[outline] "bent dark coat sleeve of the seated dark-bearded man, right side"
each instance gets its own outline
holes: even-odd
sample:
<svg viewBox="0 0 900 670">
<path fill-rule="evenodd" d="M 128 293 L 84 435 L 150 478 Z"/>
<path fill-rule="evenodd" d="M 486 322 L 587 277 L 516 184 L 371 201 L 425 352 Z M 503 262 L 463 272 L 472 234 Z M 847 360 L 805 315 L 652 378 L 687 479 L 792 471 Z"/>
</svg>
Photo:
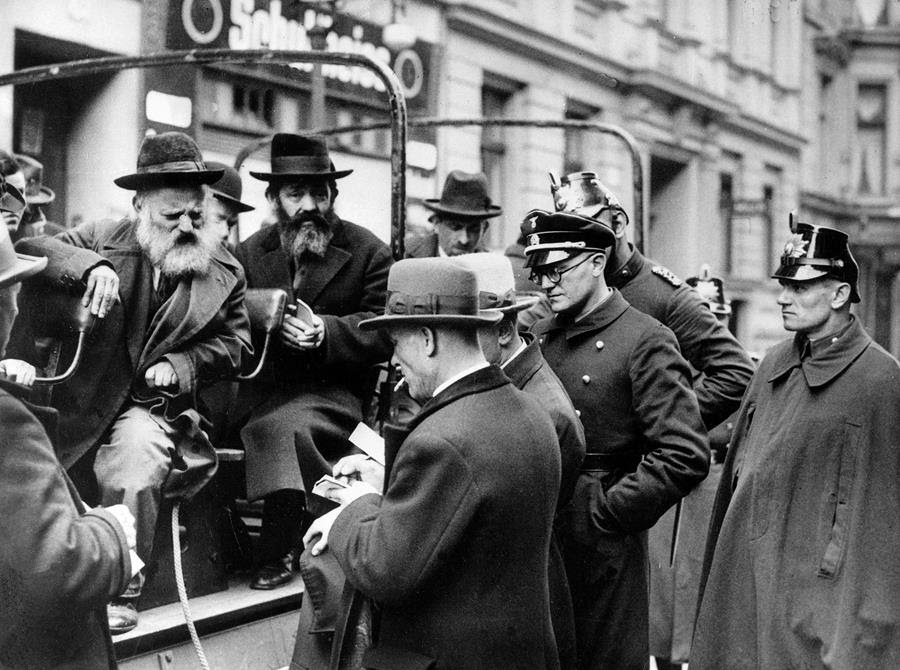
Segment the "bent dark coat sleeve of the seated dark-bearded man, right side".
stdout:
<svg viewBox="0 0 900 670">
<path fill-rule="evenodd" d="M 325 322 L 321 352 L 325 367 L 370 366 L 390 358 L 391 346 L 385 334 L 377 330 L 362 331 L 358 324 L 384 314 L 387 277 L 393 262 L 387 247 L 380 245 L 366 265 L 359 310 L 344 316 L 320 315 Z"/>
</svg>

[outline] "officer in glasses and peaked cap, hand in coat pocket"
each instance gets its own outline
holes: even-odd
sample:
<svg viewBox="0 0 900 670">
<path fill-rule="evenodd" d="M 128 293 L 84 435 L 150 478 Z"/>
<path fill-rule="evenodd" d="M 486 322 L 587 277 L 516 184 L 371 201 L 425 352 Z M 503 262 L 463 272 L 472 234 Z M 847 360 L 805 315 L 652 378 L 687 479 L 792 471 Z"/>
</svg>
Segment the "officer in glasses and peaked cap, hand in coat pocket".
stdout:
<svg viewBox="0 0 900 670">
<path fill-rule="evenodd" d="M 534 210 L 522 224 L 532 281 L 554 312 L 533 332 L 587 442 L 572 502 L 557 523 L 582 670 L 648 666 L 645 531 L 709 467 L 675 336 L 606 285 L 615 241 L 609 215 Z"/>
</svg>

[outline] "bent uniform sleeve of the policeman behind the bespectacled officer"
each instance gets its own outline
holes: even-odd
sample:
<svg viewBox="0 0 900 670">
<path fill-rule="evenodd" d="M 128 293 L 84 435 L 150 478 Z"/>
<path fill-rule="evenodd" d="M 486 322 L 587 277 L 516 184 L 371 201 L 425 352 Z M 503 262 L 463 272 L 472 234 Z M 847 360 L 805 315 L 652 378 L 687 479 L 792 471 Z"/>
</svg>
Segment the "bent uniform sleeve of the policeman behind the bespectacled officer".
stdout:
<svg viewBox="0 0 900 670">
<path fill-rule="evenodd" d="M 675 291 L 665 323 L 675 333 L 682 356 L 703 373 L 694 391 L 703 423 L 714 428 L 740 405 L 753 376 L 753 361 L 692 289 Z"/>
</svg>

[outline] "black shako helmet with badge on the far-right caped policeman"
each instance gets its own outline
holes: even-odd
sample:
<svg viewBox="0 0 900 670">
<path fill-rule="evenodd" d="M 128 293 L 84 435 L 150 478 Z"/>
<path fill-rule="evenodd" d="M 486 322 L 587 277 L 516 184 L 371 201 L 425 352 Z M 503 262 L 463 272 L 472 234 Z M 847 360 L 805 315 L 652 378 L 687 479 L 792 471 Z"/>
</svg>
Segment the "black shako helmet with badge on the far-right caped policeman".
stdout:
<svg viewBox="0 0 900 670">
<path fill-rule="evenodd" d="M 773 279 L 811 281 L 832 277 L 850 284 L 850 302 L 859 302 L 859 265 L 850 253 L 847 233 L 788 217 L 791 237 L 785 243 Z"/>
</svg>

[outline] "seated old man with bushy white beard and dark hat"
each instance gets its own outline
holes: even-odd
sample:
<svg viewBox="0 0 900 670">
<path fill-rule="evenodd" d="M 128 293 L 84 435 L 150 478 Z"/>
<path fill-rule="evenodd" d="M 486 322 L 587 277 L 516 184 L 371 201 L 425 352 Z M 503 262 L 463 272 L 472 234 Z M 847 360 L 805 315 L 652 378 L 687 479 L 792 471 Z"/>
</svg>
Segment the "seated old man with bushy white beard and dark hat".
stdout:
<svg viewBox="0 0 900 670">
<path fill-rule="evenodd" d="M 20 251 L 47 257 L 51 284 L 83 290 L 84 304 L 103 319 L 89 363 L 53 392 L 59 458 L 71 468 L 94 456 L 99 502 L 131 510 L 144 561 L 162 497 L 190 497 L 215 469 L 197 391 L 237 374 L 250 351 L 243 271 L 203 216 L 205 184 L 221 175 L 187 135 L 148 137 L 137 171 L 115 180 L 135 191 L 135 220 L 19 242 Z M 137 625 L 142 583 L 138 573 L 109 606 L 111 632 Z"/>
</svg>

